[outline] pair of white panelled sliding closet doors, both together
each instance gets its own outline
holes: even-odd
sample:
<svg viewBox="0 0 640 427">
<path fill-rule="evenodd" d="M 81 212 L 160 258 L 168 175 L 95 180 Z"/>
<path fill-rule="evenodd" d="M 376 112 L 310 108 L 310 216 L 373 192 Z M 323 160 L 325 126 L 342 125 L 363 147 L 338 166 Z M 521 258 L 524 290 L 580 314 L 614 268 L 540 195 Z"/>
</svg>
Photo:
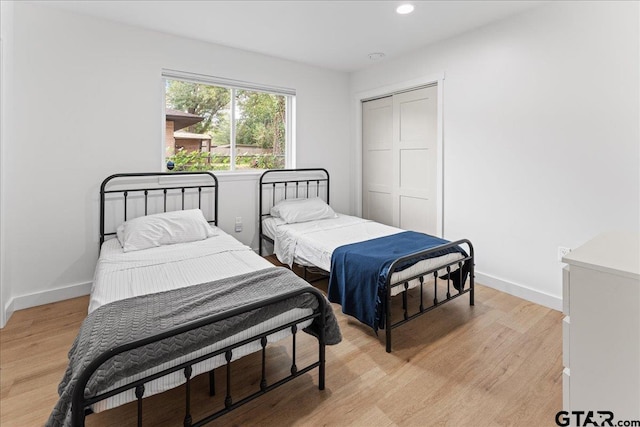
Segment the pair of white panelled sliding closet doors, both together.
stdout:
<svg viewBox="0 0 640 427">
<path fill-rule="evenodd" d="M 362 103 L 362 216 L 437 229 L 437 86 Z"/>
</svg>

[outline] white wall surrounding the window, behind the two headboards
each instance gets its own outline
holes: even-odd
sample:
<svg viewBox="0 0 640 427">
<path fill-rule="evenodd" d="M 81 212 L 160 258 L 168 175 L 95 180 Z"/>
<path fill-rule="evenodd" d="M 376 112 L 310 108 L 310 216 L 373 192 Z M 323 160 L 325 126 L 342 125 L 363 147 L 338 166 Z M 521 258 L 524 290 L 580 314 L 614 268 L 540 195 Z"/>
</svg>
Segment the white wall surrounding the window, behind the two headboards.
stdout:
<svg viewBox="0 0 640 427">
<path fill-rule="evenodd" d="M 15 3 L 15 138 L 4 142 L 8 269 L 15 309 L 88 292 L 98 255 L 98 190 L 116 172 L 158 170 L 163 68 L 297 92 L 297 165 L 349 183 L 348 75 Z M 257 184 L 221 180 L 220 223 L 257 247 Z M 237 187 L 237 188 L 236 188 Z M 333 185 L 337 209 L 346 186 Z M 238 195 L 242 195 L 238 198 Z M 5 307 L 3 307 L 4 309 Z"/>
</svg>

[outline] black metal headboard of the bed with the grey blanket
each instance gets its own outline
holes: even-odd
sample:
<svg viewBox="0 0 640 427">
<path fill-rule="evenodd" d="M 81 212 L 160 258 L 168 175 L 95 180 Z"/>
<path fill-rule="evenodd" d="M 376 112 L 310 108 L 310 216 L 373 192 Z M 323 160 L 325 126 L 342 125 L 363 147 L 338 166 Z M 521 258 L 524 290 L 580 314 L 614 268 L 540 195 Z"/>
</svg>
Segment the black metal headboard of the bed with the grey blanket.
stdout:
<svg viewBox="0 0 640 427">
<path fill-rule="evenodd" d="M 111 175 L 100 185 L 100 245 L 127 219 L 196 208 L 218 225 L 218 178 L 211 172 Z"/>
</svg>

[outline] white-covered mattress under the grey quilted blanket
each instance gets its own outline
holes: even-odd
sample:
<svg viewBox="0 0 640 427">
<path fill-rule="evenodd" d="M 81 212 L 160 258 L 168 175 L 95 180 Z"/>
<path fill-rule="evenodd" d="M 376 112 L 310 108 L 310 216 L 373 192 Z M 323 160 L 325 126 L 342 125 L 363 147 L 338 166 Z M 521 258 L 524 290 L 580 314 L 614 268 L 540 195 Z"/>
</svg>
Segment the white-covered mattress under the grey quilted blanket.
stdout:
<svg viewBox="0 0 640 427">
<path fill-rule="evenodd" d="M 257 255 L 251 248 L 222 230 L 217 230 L 217 234 L 217 236 L 198 242 L 180 243 L 127 253 L 123 252 L 117 239 L 106 241 L 102 245 L 96 266 L 89 312 L 101 305 L 124 298 L 177 289 L 273 267 L 273 264 Z M 260 332 L 311 314 L 311 312 L 310 309 L 288 311 L 212 346 L 142 372 L 126 381 L 119 381 L 110 389 L 159 372 L 175 365 L 176 362 L 181 363 L 223 348 L 233 342 L 255 336 Z M 311 321 L 306 321 L 298 326 L 303 328 L 310 323 Z M 289 335 L 291 335 L 291 331 L 287 328 L 270 335 L 268 341 L 274 342 Z M 233 359 L 238 359 L 261 348 L 259 341 L 251 342 L 233 350 Z M 205 360 L 193 365 L 193 375 L 207 372 L 224 363 L 226 363 L 224 354 Z M 184 382 L 184 375 L 181 371 L 151 381 L 145 384 L 145 397 L 177 387 Z M 92 406 L 92 409 L 94 412 L 100 412 L 134 400 L 136 400 L 134 390 L 129 390 L 97 402 Z"/>
</svg>

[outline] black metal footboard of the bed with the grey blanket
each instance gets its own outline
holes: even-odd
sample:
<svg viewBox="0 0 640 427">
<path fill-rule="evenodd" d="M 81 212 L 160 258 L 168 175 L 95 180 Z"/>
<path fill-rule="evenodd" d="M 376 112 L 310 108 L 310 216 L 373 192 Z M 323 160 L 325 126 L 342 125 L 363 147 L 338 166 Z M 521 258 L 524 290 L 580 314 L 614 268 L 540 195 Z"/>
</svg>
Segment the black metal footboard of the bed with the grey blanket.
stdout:
<svg viewBox="0 0 640 427">
<path fill-rule="evenodd" d="M 113 358 L 114 356 L 133 350 L 135 348 L 140 348 L 143 347 L 145 345 L 148 345 L 150 343 L 154 343 L 154 342 L 158 342 L 161 341 L 163 339 L 172 337 L 172 336 L 176 336 L 182 333 L 185 333 L 187 331 L 191 331 L 191 330 L 195 330 L 198 328 L 201 328 L 203 326 L 215 323 L 215 322 L 219 322 L 222 321 L 224 319 L 228 319 L 234 316 L 237 316 L 239 314 L 245 313 L 245 312 L 249 312 L 251 310 L 255 310 L 258 309 L 260 307 L 265 307 L 267 305 L 270 304 L 274 304 L 280 301 L 284 301 L 287 300 L 289 298 L 293 298 L 297 295 L 301 295 L 301 294 L 305 294 L 305 293 L 310 293 L 312 294 L 318 301 L 318 308 L 312 313 L 309 314 L 307 316 L 301 317 L 300 319 L 296 319 L 294 321 L 291 321 L 287 324 L 275 327 L 269 331 L 257 334 L 255 336 L 252 336 L 250 338 L 244 339 L 242 341 L 236 342 L 234 344 L 228 345 L 224 348 L 212 351 L 210 353 L 204 354 L 202 356 L 199 356 L 197 358 L 194 358 L 193 360 L 188 360 L 184 363 L 180 363 L 180 364 L 176 364 L 175 366 L 172 366 L 168 369 L 165 369 L 161 372 L 152 374 L 152 375 L 148 375 L 144 378 L 140 378 L 138 380 L 132 380 L 131 382 L 128 382 L 118 388 L 115 388 L 113 390 L 107 391 L 107 392 L 102 392 L 96 396 L 88 396 L 85 397 L 84 395 L 84 391 L 85 391 L 85 387 L 88 383 L 88 381 L 90 380 L 91 376 L 100 368 L 100 366 L 105 363 L 106 361 L 108 361 L 109 359 Z M 172 374 L 174 372 L 178 372 L 178 371 L 182 371 L 184 373 L 184 377 L 185 377 L 185 381 L 186 381 L 186 386 L 185 386 L 185 415 L 184 415 L 184 425 L 185 426 L 201 426 L 204 424 L 207 424 L 211 421 L 213 421 L 214 419 L 232 411 L 233 409 L 244 405 L 245 403 L 248 403 L 252 400 L 254 400 L 255 398 L 257 398 L 258 396 L 261 396 L 289 381 L 291 381 L 292 379 L 303 375 L 315 368 L 318 368 L 318 388 L 320 390 L 324 390 L 325 387 L 325 345 L 326 345 L 326 341 L 325 341 L 325 310 L 326 310 L 326 300 L 325 297 L 322 295 L 322 293 L 315 289 L 315 288 L 311 288 L 311 287 L 305 287 L 304 289 L 299 289 L 299 290 L 295 290 L 295 291 L 291 291 L 288 292 L 286 294 L 282 294 L 279 296 L 275 296 L 272 298 L 269 298 L 267 300 L 264 301 L 260 301 L 260 302 L 256 302 L 253 304 L 248 304 L 245 305 L 243 307 L 239 307 L 237 309 L 233 309 L 230 311 L 227 311 L 225 313 L 219 313 L 207 318 L 204 318 L 202 320 L 199 320 L 197 322 L 193 322 L 187 325 L 184 325 L 180 328 L 176 328 L 167 332 L 164 332 L 162 334 L 158 334 L 158 335 L 154 335 L 154 336 L 150 336 L 148 338 L 144 338 L 141 340 L 137 340 L 134 342 L 129 342 L 123 345 L 120 345 L 116 348 L 113 348 L 105 353 L 103 353 L 102 355 L 100 355 L 98 358 L 96 358 L 89 366 L 87 366 L 83 372 L 81 373 L 75 388 L 73 390 L 73 397 L 72 397 L 72 425 L 74 426 L 83 426 L 84 422 L 85 422 L 85 417 L 87 416 L 87 414 L 91 413 L 90 411 L 90 407 L 91 405 L 93 405 L 96 402 L 99 402 L 101 400 L 107 399 L 109 397 L 115 396 L 117 394 L 120 394 L 124 391 L 127 390 L 135 390 L 135 396 L 137 398 L 137 425 L 141 426 L 143 423 L 143 398 L 145 397 L 145 384 L 155 380 L 157 378 L 161 378 L 164 376 L 167 376 L 169 374 Z M 296 334 L 298 333 L 298 327 L 297 325 L 300 324 L 301 322 L 307 321 L 307 320 L 311 320 L 313 319 L 314 322 L 317 322 L 318 328 L 318 335 L 317 335 L 317 339 L 318 339 L 318 360 L 316 362 L 310 363 L 309 365 L 299 368 L 296 364 Z M 268 344 L 268 339 L 267 337 L 275 332 L 281 331 L 281 330 L 285 330 L 285 329 L 290 329 L 291 330 L 291 339 L 292 339 L 292 347 L 293 347 L 293 353 L 292 353 L 292 358 L 291 358 L 291 367 L 290 367 L 290 375 L 275 381 L 273 383 L 270 383 L 267 375 L 266 375 L 266 351 L 267 351 L 267 344 Z M 254 342 L 254 341 L 259 341 L 260 342 L 260 346 L 261 346 L 261 352 L 262 352 L 262 369 L 261 369 L 261 378 L 259 381 L 259 388 L 253 392 L 252 394 L 250 394 L 249 396 L 246 396 L 238 401 L 234 401 L 233 395 L 232 395 L 232 390 L 231 390 L 231 361 L 233 359 L 233 351 L 234 349 L 241 347 L 245 344 L 248 344 L 250 342 Z M 224 401 L 224 408 L 219 409 L 217 411 L 213 411 L 211 412 L 209 415 L 205 416 L 204 418 L 194 421 L 192 419 L 192 415 L 191 415 L 191 379 L 192 379 L 192 367 L 193 365 L 195 365 L 196 363 L 202 362 L 204 360 L 207 359 L 211 359 L 215 356 L 224 354 L 225 355 L 225 360 L 226 360 L 226 371 L 227 371 L 227 382 L 226 382 L 226 396 L 225 396 L 225 401 Z M 209 373 L 209 378 L 210 381 L 213 380 L 213 371 L 210 371 Z M 213 394 L 213 383 L 210 383 L 210 393 Z"/>
</svg>

